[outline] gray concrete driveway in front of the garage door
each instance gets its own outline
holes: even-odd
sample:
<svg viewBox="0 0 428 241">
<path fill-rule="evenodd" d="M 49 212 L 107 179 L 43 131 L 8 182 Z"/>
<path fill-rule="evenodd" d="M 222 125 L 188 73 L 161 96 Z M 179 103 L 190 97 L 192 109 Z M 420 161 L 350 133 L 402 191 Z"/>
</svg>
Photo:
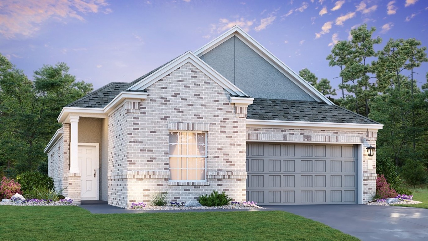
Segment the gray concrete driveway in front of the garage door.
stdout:
<svg viewBox="0 0 428 241">
<path fill-rule="evenodd" d="M 375 205 L 277 205 L 361 240 L 428 240 L 428 209 Z M 266 210 L 265 209 L 265 210 Z"/>
</svg>

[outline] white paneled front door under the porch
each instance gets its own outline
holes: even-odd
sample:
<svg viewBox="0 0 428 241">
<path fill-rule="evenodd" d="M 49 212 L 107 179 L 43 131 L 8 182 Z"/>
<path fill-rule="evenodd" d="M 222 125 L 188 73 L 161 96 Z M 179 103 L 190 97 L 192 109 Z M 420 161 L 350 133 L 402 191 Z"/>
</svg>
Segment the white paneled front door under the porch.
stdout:
<svg viewBox="0 0 428 241">
<path fill-rule="evenodd" d="M 98 200 L 98 143 L 79 143 L 77 159 L 81 199 Z"/>
</svg>

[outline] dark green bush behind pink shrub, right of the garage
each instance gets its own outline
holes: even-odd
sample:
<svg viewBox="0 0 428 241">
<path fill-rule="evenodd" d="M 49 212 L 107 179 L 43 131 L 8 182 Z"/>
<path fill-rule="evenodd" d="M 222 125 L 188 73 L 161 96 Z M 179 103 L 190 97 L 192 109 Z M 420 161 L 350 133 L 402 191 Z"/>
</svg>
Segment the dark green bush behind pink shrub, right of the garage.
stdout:
<svg viewBox="0 0 428 241">
<path fill-rule="evenodd" d="M 389 183 L 389 186 L 391 188 L 394 188 L 395 190 L 397 190 L 397 188 L 399 188 L 402 184 L 400 175 L 398 175 L 397 172 L 397 167 L 390 158 L 384 157 L 382 155 L 377 155 L 376 173 L 378 174 L 378 176 L 383 174 L 386 181 Z"/>
</svg>

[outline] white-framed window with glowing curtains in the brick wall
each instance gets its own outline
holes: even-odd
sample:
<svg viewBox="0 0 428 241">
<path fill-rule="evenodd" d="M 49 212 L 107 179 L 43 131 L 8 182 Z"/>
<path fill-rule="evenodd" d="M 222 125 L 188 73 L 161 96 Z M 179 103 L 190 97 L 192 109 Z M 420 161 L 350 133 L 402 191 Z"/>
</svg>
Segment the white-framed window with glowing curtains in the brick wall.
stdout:
<svg viewBox="0 0 428 241">
<path fill-rule="evenodd" d="M 205 132 L 169 132 L 170 180 L 205 180 Z"/>
</svg>

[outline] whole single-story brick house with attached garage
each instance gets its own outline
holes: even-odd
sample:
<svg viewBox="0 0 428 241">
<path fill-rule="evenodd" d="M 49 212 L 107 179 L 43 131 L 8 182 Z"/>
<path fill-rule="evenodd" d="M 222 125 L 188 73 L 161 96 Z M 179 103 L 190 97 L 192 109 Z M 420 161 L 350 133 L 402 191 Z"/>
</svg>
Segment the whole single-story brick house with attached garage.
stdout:
<svg viewBox="0 0 428 241">
<path fill-rule="evenodd" d="M 382 125 L 333 104 L 240 27 L 131 83 L 65 106 L 46 146 L 55 188 L 129 208 L 212 190 L 236 201 L 365 203 Z"/>
</svg>

